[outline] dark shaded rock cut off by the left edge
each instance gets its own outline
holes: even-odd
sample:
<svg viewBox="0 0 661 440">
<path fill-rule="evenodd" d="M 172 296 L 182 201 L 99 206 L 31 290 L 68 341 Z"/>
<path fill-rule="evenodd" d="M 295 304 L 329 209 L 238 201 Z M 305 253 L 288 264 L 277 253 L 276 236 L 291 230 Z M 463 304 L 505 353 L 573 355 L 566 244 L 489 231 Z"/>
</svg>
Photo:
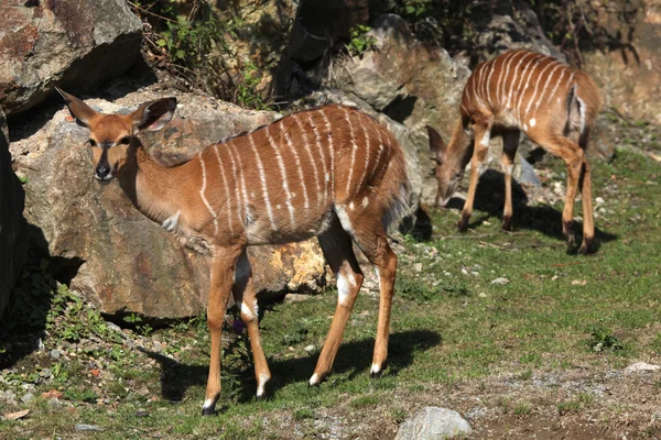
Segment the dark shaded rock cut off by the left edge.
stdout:
<svg viewBox="0 0 661 440">
<path fill-rule="evenodd" d="M 9 130 L 0 108 L 0 316 L 28 253 L 24 198 L 21 182 L 11 167 Z"/>
</svg>

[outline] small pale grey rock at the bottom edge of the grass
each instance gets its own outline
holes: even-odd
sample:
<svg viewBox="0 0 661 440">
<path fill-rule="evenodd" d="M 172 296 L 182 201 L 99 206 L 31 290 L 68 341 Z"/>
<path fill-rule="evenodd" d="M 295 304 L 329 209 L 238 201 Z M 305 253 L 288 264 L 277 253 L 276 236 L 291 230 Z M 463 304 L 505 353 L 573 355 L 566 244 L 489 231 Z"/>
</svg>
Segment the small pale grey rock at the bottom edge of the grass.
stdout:
<svg viewBox="0 0 661 440">
<path fill-rule="evenodd" d="M 470 433 L 470 425 L 455 410 L 427 406 L 404 421 L 394 440 L 436 440 Z"/>
</svg>

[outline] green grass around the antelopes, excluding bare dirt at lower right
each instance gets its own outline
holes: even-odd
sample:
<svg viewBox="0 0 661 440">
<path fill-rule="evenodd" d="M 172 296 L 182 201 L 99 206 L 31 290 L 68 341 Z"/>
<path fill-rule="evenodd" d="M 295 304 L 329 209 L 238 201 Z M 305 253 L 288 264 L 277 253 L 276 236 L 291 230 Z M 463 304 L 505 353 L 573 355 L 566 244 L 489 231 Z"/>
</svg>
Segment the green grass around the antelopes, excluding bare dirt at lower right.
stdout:
<svg viewBox="0 0 661 440">
<path fill-rule="evenodd" d="M 562 170 L 559 164 L 552 166 Z M 561 205 L 516 213 L 514 233 L 501 232 L 497 217 L 476 211 L 474 218 L 483 222 L 459 235 L 456 210 L 432 211 L 434 238 L 425 243 L 405 238 L 399 252 L 389 366 L 378 380 L 369 377 L 378 297 L 364 293 L 333 374 L 321 387 L 307 385 L 335 309 L 336 292 L 329 289 L 311 300 L 267 307 L 260 329 L 273 373 L 268 400 L 252 397 L 256 383 L 240 337 L 225 350 L 220 413 L 199 417 L 208 336 L 204 319 L 196 319 L 154 331 L 152 337 L 169 344 L 166 353 L 175 361 L 121 344 L 83 353 L 76 361 L 61 360 L 63 382 L 37 383 L 33 402 L 20 405 L 31 416 L 0 421 L 0 437 L 69 438 L 76 424 L 93 424 L 105 430 L 85 438 L 313 438 L 333 430 L 323 422 L 328 417 L 395 426 L 414 407 L 442 405 L 443 396 L 452 393 L 479 396 L 488 389 L 486 383 L 502 375 L 530 383 L 540 373 L 562 373 L 575 365 L 605 371 L 658 359 L 661 167 L 618 151 L 611 162 L 594 163 L 593 175 L 594 197 L 606 202 L 596 219 L 602 245 L 590 256 L 565 252 L 557 235 Z M 579 213 L 578 202 L 576 207 Z M 414 263 L 423 264 L 422 272 Z M 491 284 L 501 276 L 509 284 Z M 95 316 L 80 321 L 93 327 L 79 324 L 73 311 L 84 307 L 75 298 L 68 301 L 68 308 L 55 304 L 58 316 L 74 322 L 66 332 L 63 323 L 54 327 L 56 339 L 46 336 L 46 349 L 80 336 L 112 334 Z M 304 350 L 310 344 L 315 346 L 312 353 Z M 89 358 L 105 359 L 104 370 L 113 380 L 90 378 L 80 366 Z M 149 363 L 152 359 L 158 362 Z M 39 372 L 31 362 L 23 362 L 24 371 L 19 369 L 11 386 L 34 380 Z M 65 393 L 62 406 L 50 406 L 41 397 L 51 388 Z M 109 402 L 98 404 L 97 396 Z M 540 404 L 508 397 L 496 405 L 505 414 L 533 417 Z M 560 415 L 575 415 L 596 403 L 592 394 L 578 393 L 550 405 Z M 0 403 L 0 414 L 17 409 Z M 346 420 L 345 427 L 350 426 Z"/>
</svg>

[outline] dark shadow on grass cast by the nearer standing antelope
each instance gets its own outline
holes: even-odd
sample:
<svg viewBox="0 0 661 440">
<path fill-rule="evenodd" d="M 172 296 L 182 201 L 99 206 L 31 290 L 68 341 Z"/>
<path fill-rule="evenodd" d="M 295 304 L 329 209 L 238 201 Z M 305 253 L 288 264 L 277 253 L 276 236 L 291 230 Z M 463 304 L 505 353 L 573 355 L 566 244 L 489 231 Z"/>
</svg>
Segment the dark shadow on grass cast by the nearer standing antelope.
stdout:
<svg viewBox="0 0 661 440">
<path fill-rule="evenodd" d="M 388 367 L 383 372 L 383 375 L 399 374 L 401 370 L 411 365 L 415 353 L 438 345 L 441 341 L 442 338 L 438 333 L 427 330 L 411 330 L 391 334 Z M 353 381 L 360 374 L 369 375 L 373 344 L 375 341 L 371 338 L 343 343 L 335 358 L 330 377 L 333 374 L 347 372 L 349 373 L 348 381 Z M 139 350 L 161 364 L 161 395 L 165 400 L 181 402 L 189 387 L 204 387 L 206 385 L 208 365 L 184 364 L 152 351 Z M 318 352 L 311 353 L 304 358 L 282 361 L 273 361 L 271 359 L 269 366 L 272 378 L 268 386 L 269 393 L 272 395 L 292 382 L 307 382 L 314 372 L 317 358 Z M 225 396 L 227 396 L 228 378 L 232 382 L 239 382 L 236 384 L 236 393 L 234 393 L 239 403 L 247 403 L 253 398 L 257 391 L 257 383 L 251 361 L 249 364 L 241 365 L 240 367 L 223 365 L 221 384 L 224 387 L 223 395 Z M 221 396 L 220 402 L 223 400 Z M 227 400 L 225 399 L 225 402 Z"/>
</svg>

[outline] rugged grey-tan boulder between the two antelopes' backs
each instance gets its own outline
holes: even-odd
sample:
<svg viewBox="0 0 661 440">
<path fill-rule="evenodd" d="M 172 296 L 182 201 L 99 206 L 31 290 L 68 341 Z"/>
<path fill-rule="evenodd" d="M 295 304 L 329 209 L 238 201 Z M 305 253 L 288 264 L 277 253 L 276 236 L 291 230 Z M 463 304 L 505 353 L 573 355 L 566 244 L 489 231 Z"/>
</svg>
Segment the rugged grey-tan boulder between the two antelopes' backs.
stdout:
<svg viewBox="0 0 661 440">
<path fill-rule="evenodd" d="M 422 43 L 398 15 L 379 16 L 368 33 L 376 50 L 347 57 L 334 67 L 333 85 L 355 94 L 410 131 L 420 163 L 422 199 L 435 197 L 434 160 L 425 125 L 448 139 L 458 118 L 459 99 L 470 70 L 445 50 Z"/>
</svg>

